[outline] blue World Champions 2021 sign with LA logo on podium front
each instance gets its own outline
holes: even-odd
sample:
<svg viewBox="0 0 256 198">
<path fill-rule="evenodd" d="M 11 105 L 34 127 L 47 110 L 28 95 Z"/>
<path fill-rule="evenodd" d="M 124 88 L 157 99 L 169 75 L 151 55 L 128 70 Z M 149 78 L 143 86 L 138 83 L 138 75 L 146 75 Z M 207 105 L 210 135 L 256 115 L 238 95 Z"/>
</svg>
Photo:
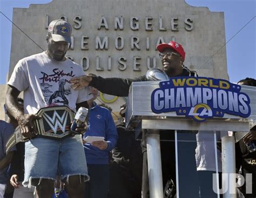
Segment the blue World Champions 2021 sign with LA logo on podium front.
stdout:
<svg viewBox="0 0 256 198">
<path fill-rule="evenodd" d="M 176 111 L 177 115 L 204 122 L 207 118 L 231 114 L 249 117 L 250 97 L 241 93 L 241 86 L 226 80 L 207 77 L 173 77 L 161 81 L 151 95 L 154 113 Z"/>
</svg>

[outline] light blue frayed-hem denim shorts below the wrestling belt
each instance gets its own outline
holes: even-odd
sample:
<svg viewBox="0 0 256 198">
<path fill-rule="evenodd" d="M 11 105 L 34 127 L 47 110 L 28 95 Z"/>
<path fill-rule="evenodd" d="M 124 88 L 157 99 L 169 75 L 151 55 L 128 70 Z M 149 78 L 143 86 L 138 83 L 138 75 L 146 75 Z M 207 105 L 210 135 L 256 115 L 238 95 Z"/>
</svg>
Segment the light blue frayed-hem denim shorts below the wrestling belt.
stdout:
<svg viewBox="0 0 256 198">
<path fill-rule="evenodd" d="M 32 179 L 52 179 L 60 175 L 84 175 L 89 180 L 81 135 L 62 139 L 33 138 L 25 143 L 23 186 L 31 187 Z"/>
</svg>

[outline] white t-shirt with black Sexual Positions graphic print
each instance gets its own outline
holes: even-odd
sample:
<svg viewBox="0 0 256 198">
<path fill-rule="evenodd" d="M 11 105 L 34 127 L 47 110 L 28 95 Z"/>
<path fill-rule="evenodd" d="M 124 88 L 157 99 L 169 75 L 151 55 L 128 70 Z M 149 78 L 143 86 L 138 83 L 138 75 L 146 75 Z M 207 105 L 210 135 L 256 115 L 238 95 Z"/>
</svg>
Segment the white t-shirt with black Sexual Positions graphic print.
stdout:
<svg viewBox="0 0 256 198">
<path fill-rule="evenodd" d="M 72 77 L 85 75 L 83 68 L 66 59 L 56 61 L 43 53 L 18 61 L 8 82 L 24 91 L 25 114 L 36 114 L 43 107 L 66 105 L 76 111 L 76 103 L 92 98 L 89 89 L 73 90 Z"/>
</svg>

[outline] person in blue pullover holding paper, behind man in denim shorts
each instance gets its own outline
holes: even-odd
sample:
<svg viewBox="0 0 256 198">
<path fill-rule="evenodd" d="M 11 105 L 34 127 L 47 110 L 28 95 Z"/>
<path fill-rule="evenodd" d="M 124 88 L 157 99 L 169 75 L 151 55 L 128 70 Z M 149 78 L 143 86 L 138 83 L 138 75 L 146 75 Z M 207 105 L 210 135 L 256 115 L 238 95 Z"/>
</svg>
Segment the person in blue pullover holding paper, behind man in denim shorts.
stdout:
<svg viewBox="0 0 256 198">
<path fill-rule="evenodd" d="M 87 101 L 90 108 L 87 136 L 104 137 L 103 141 L 84 143 L 90 181 L 85 183 L 86 198 L 106 198 L 109 190 L 109 152 L 116 146 L 118 133 L 111 112 L 96 102 L 98 90 L 90 87 L 93 98 Z"/>
</svg>

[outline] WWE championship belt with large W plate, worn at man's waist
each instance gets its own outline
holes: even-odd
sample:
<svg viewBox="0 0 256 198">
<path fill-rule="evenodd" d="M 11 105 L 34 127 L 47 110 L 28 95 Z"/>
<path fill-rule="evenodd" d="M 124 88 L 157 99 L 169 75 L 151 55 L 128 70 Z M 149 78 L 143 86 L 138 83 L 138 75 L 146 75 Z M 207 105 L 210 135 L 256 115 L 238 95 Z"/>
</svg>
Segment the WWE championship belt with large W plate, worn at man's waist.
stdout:
<svg viewBox="0 0 256 198">
<path fill-rule="evenodd" d="M 68 107 L 45 107 L 39 109 L 36 115 L 41 116 L 41 118 L 32 122 L 35 137 L 63 138 L 71 134 L 70 125 L 75 118 L 75 112 Z M 6 144 L 6 153 L 17 143 L 26 142 L 29 139 L 22 135 L 18 126 Z"/>
</svg>

